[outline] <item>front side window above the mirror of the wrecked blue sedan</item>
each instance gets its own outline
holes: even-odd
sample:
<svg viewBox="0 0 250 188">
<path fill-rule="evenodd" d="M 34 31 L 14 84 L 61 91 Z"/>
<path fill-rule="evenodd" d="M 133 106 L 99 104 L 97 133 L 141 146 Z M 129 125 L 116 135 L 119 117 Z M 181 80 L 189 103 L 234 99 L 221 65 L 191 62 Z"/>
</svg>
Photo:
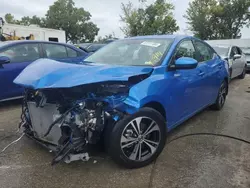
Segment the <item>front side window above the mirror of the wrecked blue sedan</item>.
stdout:
<svg viewBox="0 0 250 188">
<path fill-rule="evenodd" d="M 177 48 L 175 59 L 180 57 L 191 57 L 195 59 L 195 49 L 191 40 L 183 41 Z"/>
</svg>

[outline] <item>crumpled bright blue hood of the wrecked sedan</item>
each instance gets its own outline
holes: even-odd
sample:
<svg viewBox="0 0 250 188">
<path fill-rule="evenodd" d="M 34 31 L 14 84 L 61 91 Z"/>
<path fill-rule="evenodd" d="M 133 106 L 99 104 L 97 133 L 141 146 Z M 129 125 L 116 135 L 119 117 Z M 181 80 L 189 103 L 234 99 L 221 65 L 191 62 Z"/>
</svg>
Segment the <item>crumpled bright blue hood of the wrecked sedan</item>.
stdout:
<svg viewBox="0 0 250 188">
<path fill-rule="evenodd" d="M 71 64 L 39 59 L 27 66 L 14 83 L 34 89 L 69 88 L 104 81 L 127 81 L 129 77 L 148 74 L 153 67 L 117 66 L 94 63 Z"/>
</svg>

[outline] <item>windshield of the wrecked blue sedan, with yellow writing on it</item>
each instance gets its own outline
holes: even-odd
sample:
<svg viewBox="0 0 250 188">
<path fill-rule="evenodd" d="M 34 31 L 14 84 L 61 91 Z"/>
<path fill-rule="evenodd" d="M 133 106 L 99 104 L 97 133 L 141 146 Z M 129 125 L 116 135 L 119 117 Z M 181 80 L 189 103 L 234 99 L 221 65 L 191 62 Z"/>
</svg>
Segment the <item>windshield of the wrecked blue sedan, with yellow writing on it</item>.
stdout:
<svg viewBox="0 0 250 188">
<path fill-rule="evenodd" d="M 173 39 L 126 39 L 104 46 L 85 61 L 112 65 L 157 65 Z"/>
</svg>

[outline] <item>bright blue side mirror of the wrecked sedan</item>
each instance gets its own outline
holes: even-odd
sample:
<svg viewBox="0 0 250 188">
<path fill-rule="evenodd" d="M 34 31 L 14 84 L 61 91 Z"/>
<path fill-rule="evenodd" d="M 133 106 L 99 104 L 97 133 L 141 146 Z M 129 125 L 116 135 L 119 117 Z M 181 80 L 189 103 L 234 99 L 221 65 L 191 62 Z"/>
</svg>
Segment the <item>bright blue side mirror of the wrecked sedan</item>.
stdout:
<svg viewBox="0 0 250 188">
<path fill-rule="evenodd" d="M 194 69 L 198 61 L 190 57 L 181 57 L 175 61 L 175 69 Z"/>
</svg>

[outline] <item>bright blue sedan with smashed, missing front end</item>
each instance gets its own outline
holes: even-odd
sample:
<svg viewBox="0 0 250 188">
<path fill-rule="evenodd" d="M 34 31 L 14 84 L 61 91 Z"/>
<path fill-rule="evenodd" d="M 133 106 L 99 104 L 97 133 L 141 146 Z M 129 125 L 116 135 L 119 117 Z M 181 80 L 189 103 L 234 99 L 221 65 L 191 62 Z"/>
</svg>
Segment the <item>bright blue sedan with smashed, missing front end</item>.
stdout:
<svg viewBox="0 0 250 188">
<path fill-rule="evenodd" d="M 39 59 L 14 82 L 25 88 L 20 127 L 55 152 L 52 164 L 88 160 L 88 146 L 101 142 L 115 162 L 139 168 L 158 157 L 168 131 L 223 107 L 228 65 L 199 39 L 143 36 L 80 64 Z"/>
</svg>

